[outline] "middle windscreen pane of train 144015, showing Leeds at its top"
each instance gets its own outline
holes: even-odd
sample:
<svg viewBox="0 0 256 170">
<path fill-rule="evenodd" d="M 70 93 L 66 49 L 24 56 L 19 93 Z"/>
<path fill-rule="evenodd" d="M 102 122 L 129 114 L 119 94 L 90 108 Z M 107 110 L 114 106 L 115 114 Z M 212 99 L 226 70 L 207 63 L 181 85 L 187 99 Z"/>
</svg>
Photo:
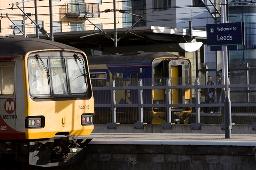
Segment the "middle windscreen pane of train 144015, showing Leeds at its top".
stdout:
<svg viewBox="0 0 256 170">
<path fill-rule="evenodd" d="M 54 94 L 68 94 L 64 59 L 50 59 L 52 88 Z"/>
</svg>

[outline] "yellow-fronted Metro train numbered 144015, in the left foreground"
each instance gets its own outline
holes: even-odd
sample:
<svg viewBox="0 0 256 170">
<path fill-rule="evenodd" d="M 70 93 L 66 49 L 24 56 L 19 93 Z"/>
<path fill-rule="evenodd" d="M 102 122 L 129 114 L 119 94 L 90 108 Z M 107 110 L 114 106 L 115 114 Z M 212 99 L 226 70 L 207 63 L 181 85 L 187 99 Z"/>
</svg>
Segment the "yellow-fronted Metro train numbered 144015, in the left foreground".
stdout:
<svg viewBox="0 0 256 170">
<path fill-rule="evenodd" d="M 0 160 L 82 160 L 94 113 L 84 52 L 36 38 L 3 38 L 0 47 Z"/>
</svg>

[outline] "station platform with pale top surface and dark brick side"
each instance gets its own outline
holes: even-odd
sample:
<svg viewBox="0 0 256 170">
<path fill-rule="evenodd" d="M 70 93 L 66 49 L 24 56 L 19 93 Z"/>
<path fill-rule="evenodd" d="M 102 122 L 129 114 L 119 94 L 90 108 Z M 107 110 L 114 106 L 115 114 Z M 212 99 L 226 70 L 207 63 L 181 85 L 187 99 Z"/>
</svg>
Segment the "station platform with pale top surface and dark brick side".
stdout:
<svg viewBox="0 0 256 170">
<path fill-rule="evenodd" d="M 86 170 L 256 169 L 255 131 L 251 125 L 233 125 L 233 130 L 226 139 L 220 125 L 202 125 L 200 130 L 190 125 L 95 125 L 86 147 Z"/>
</svg>

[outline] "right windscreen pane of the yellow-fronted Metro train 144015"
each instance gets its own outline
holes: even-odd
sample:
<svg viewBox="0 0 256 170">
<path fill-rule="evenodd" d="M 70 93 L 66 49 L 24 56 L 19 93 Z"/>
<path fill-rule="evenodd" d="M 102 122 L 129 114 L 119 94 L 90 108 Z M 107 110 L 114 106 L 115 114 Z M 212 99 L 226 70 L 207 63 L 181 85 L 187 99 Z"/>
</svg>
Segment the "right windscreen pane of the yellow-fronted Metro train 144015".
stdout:
<svg viewBox="0 0 256 170">
<path fill-rule="evenodd" d="M 86 93 L 88 90 L 84 61 L 82 59 L 80 61 L 82 63 L 75 59 L 68 59 L 68 79 L 71 93 Z"/>
</svg>

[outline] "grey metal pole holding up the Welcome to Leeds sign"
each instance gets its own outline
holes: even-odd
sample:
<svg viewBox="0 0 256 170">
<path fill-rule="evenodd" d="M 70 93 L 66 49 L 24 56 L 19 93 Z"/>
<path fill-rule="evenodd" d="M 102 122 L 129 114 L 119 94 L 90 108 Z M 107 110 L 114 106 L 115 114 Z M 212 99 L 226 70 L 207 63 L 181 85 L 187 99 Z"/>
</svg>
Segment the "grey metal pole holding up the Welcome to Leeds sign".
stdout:
<svg viewBox="0 0 256 170">
<path fill-rule="evenodd" d="M 227 22 L 226 18 L 226 9 L 227 9 L 227 2 L 224 0 L 224 8 L 223 8 L 223 18 L 224 23 Z M 224 46 L 224 53 L 225 53 L 225 101 L 224 101 L 224 108 L 225 108 L 225 138 L 231 138 L 231 130 L 232 130 L 232 120 L 231 120 L 231 101 L 228 94 L 228 47 Z"/>
</svg>

